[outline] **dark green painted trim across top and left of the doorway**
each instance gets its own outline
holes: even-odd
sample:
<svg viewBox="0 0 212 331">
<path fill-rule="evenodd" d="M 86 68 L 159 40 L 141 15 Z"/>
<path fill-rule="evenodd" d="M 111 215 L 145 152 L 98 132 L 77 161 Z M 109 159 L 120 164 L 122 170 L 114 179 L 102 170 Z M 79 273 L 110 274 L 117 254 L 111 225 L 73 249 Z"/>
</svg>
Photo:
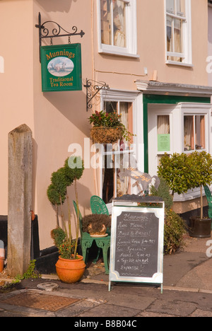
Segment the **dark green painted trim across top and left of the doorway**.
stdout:
<svg viewBox="0 0 212 331">
<path fill-rule="evenodd" d="M 148 104 L 170 104 L 177 103 L 211 103 L 210 97 L 192 97 L 180 95 L 153 95 L 143 94 L 143 143 L 144 143 L 144 171 L 148 173 Z"/>
</svg>

